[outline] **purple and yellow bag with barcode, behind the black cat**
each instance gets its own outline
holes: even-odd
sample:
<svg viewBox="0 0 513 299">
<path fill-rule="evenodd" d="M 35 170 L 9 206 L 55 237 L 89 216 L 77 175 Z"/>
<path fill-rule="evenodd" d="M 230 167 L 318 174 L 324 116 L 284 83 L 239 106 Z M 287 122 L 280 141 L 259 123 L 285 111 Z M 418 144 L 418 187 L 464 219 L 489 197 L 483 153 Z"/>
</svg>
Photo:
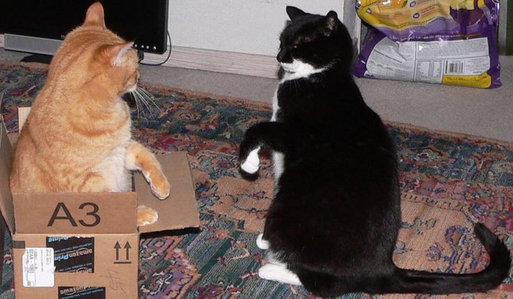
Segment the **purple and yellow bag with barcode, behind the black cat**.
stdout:
<svg viewBox="0 0 513 299">
<path fill-rule="evenodd" d="M 359 0 L 359 77 L 497 88 L 498 0 Z"/>
</svg>

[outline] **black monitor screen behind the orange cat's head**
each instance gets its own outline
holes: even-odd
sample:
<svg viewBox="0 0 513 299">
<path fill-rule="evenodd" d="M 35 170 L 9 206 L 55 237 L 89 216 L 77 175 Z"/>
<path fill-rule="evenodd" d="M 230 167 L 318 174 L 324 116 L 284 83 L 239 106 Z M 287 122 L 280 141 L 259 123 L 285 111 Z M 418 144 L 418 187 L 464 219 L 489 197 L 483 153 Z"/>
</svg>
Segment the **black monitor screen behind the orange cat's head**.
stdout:
<svg viewBox="0 0 513 299">
<path fill-rule="evenodd" d="M 105 24 L 137 49 L 162 54 L 167 50 L 169 0 L 101 0 Z M 63 40 L 84 22 L 95 0 L 1 0 L 0 33 Z"/>
</svg>

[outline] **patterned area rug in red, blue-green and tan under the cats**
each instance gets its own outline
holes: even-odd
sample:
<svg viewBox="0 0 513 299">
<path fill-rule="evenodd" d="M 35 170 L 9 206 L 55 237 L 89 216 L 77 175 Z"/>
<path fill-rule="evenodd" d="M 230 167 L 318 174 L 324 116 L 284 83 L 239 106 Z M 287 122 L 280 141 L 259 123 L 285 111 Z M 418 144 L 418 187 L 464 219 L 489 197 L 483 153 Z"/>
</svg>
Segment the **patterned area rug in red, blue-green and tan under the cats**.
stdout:
<svg viewBox="0 0 513 299">
<path fill-rule="evenodd" d="M 0 92 L 8 129 L 17 106 L 30 106 L 46 67 L 0 63 Z M 270 118 L 270 106 L 196 92 L 145 86 L 158 106 L 133 113 L 134 135 L 154 152 L 187 151 L 201 217 L 199 233 L 143 236 L 140 298 L 312 298 L 303 287 L 259 279 L 266 262 L 255 239 L 272 196 L 270 160 L 260 178 L 238 174 L 236 154 L 245 129 Z M 473 273 L 488 256 L 472 233 L 480 221 L 513 249 L 513 147 L 507 143 L 388 127 L 399 150 L 403 227 L 394 260 L 403 268 Z M 6 238 L 0 298 L 13 298 L 10 237 Z M 372 265 L 370 265 L 372 266 Z M 513 273 L 500 289 L 447 298 L 508 298 Z M 342 298 L 427 298 L 421 295 Z M 438 297 L 437 297 L 438 298 Z"/>
</svg>

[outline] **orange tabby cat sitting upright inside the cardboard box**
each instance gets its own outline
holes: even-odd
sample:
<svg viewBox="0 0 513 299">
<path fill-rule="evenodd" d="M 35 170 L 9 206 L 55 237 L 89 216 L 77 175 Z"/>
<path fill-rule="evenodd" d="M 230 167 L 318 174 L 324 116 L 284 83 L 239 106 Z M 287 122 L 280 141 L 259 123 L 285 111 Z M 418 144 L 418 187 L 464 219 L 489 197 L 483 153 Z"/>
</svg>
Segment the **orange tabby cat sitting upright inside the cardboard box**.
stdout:
<svg viewBox="0 0 513 299">
<path fill-rule="evenodd" d="M 105 27 L 103 7 L 89 7 L 49 67 L 15 147 L 12 192 L 130 191 L 130 170 L 141 170 L 160 199 L 169 182 L 160 164 L 132 140 L 128 105 L 121 95 L 137 88 L 137 54 Z M 158 214 L 137 208 L 137 223 Z"/>
</svg>

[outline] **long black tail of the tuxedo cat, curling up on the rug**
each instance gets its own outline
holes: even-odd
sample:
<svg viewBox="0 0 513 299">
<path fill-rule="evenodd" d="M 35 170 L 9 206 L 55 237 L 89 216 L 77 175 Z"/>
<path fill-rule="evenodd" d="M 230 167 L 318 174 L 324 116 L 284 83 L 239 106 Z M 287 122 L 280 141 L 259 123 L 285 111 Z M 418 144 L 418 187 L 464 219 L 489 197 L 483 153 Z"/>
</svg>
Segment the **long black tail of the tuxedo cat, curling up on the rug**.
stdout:
<svg viewBox="0 0 513 299">
<path fill-rule="evenodd" d="M 396 268 L 385 293 L 475 293 L 495 289 L 510 271 L 511 257 L 506 245 L 487 227 L 477 223 L 474 233 L 490 256 L 490 263 L 473 274 L 429 273 Z"/>
</svg>

